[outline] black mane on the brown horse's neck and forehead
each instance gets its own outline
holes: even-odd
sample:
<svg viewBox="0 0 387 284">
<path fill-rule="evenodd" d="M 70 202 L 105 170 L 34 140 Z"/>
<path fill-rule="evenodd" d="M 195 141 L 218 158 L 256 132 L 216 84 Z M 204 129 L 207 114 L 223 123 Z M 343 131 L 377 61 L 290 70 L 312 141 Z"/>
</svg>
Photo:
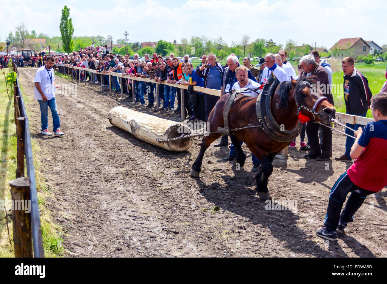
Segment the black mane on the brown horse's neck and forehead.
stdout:
<svg viewBox="0 0 387 284">
<path fill-rule="evenodd" d="M 295 94 L 298 101 L 302 101 L 303 97 L 301 95 L 301 90 L 305 87 L 311 87 L 312 84 L 315 84 L 315 76 L 302 77 L 298 78 L 296 87 L 294 88 L 293 94 Z M 293 83 L 291 81 L 281 82 L 278 86 L 278 95 L 279 95 L 279 109 L 288 108 L 289 104 L 289 92 L 293 89 Z"/>
</svg>

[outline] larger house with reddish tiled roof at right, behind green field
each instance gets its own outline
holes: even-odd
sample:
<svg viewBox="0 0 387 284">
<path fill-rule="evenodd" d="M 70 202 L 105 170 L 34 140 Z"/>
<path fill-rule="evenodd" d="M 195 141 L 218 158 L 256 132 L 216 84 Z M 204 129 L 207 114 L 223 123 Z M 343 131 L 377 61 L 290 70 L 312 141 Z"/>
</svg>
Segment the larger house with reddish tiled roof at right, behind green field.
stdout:
<svg viewBox="0 0 387 284">
<path fill-rule="evenodd" d="M 370 45 L 361 37 L 340 39 L 330 49 L 332 56 L 343 58 L 346 56 L 367 56 L 370 53 Z"/>
</svg>

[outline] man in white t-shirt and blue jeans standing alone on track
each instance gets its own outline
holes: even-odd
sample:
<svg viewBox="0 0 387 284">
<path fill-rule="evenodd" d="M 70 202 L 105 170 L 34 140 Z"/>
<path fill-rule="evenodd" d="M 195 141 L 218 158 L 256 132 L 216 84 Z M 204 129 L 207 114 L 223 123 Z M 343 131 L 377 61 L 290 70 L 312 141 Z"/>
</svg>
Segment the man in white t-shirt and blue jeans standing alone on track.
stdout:
<svg viewBox="0 0 387 284">
<path fill-rule="evenodd" d="M 57 111 L 57 102 L 55 100 L 55 89 L 59 90 L 60 86 L 55 84 L 54 75 L 54 58 L 48 56 L 46 65 L 40 67 L 35 75 L 35 95 L 34 98 L 38 100 L 41 112 L 41 133 L 43 135 L 52 135 L 48 131 L 48 107 L 51 109 L 52 120 L 54 124 L 54 134 L 63 135 L 60 131 L 60 121 Z"/>
</svg>

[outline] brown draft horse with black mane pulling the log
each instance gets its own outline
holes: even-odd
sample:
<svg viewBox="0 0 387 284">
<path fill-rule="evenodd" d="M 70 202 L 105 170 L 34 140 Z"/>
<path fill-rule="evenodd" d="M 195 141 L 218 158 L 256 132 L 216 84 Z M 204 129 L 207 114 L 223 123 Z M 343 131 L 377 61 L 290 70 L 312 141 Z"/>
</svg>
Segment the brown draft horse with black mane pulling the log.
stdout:
<svg viewBox="0 0 387 284">
<path fill-rule="evenodd" d="M 316 84 L 314 77 L 300 78 L 298 81 L 292 79 L 289 82 L 282 82 L 277 86 L 271 100 L 271 111 L 274 119 L 279 125 L 284 124 L 284 127 L 287 130 L 295 128 L 298 121 L 298 107 L 296 101 L 302 106 L 301 113 L 308 116 L 311 121 L 329 123 L 330 117 L 336 117 L 336 109 L 328 102 L 328 100 L 321 100 L 315 109 L 315 115 L 304 108 L 312 109 L 315 102 L 321 97 L 320 90 L 317 90 L 316 92 L 316 89 L 314 89 L 313 92 L 313 86 L 316 85 L 312 84 Z M 208 117 L 207 122 L 209 122 L 209 129 L 207 129 L 207 131 L 212 132 L 216 131 L 217 127 L 224 127 L 223 110 L 229 96 L 230 94 L 223 95 L 217 101 Z M 256 97 L 243 96 L 238 98 L 238 100 L 235 100 L 229 110 L 230 129 L 259 125 L 255 113 L 256 99 Z M 203 138 L 199 155 L 192 165 L 192 177 L 199 177 L 205 150 L 207 150 L 210 144 L 221 135 L 222 134 L 220 133 L 212 133 Z M 246 160 L 246 155 L 239 146 L 240 141 L 245 142 L 251 153 L 258 158 L 261 166 L 255 175 L 257 194 L 262 199 L 270 198 L 267 189 L 267 179 L 273 172 L 272 162 L 274 157 L 288 146 L 288 143 L 275 141 L 269 138 L 260 128 L 248 128 L 233 131 L 230 138 L 235 146 L 236 162 L 240 164 L 240 167 L 243 167 Z"/>
</svg>

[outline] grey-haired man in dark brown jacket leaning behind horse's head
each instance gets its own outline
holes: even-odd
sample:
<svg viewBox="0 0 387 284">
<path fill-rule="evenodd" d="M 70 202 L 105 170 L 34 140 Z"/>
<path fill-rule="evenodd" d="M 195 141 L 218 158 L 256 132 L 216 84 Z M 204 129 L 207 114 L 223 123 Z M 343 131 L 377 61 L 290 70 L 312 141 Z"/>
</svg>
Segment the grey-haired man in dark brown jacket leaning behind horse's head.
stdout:
<svg viewBox="0 0 387 284">
<path fill-rule="evenodd" d="M 328 73 L 324 67 L 317 64 L 312 55 L 303 56 L 303 58 L 300 59 L 300 64 L 303 67 L 301 77 L 316 76 L 317 87 L 320 87 L 322 95 L 327 97 L 328 102 L 333 105 L 333 95 L 329 85 Z M 327 125 L 330 126 L 330 124 Z M 313 123 L 313 121 L 307 122 L 306 129 L 310 145 L 310 152 L 309 154 L 302 155 L 305 159 L 326 161 L 332 157 L 332 131 L 325 126 L 321 126 L 322 143 L 320 148 L 319 126 L 320 124 Z"/>
</svg>

